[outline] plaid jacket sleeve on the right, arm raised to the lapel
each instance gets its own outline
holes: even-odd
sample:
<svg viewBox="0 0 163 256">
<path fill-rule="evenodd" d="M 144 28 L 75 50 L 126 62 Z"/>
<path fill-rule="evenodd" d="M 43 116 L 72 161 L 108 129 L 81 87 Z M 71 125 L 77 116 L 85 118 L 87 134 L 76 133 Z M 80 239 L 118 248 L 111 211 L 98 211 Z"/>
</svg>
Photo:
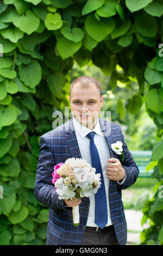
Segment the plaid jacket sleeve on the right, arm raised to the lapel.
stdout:
<svg viewBox="0 0 163 256">
<path fill-rule="evenodd" d="M 118 185 L 118 186 L 120 186 L 121 189 L 123 190 L 124 188 L 127 188 L 134 184 L 134 182 L 136 181 L 139 175 L 139 169 L 137 168 L 136 163 L 133 157 L 131 156 L 131 153 L 128 150 L 126 142 L 124 141 L 122 129 L 121 129 L 121 136 L 122 136 L 123 153 L 124 153 L 124 161 L 122 163 L 122 167 L 126 172 L 126 179 L 122 185 Z"/>
</svg>

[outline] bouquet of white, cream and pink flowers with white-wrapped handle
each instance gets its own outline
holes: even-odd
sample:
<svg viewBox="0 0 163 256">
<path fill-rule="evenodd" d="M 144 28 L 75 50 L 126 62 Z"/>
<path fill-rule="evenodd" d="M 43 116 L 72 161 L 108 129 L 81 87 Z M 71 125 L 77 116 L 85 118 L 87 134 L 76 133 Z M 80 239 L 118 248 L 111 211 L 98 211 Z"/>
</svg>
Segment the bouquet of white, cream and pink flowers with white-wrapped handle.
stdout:
<svg viewBox="0 0 163 256">
<path fill-rule="evenodd" d="M 101 185 L 101 174 L 83 159 L 70 158 L 54 166 L 52 183 L 59 199 L 82 198 L 96 194 Z M 79 205 L 72 207 L 73 225 L 79 224 Z"/>
</svg>

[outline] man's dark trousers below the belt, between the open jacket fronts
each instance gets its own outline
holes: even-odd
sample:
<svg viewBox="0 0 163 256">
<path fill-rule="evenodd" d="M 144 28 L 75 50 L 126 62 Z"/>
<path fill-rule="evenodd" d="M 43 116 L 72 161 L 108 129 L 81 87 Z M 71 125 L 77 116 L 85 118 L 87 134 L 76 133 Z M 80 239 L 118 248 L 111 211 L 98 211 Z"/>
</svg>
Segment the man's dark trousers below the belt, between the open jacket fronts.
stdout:
<svg viewBox="0 0 163 256">
<path fill-rule="evenodd" d="M 96 228 L 86 227 L 81 245 L 119 245 L 114 226 L 110 225 L 96 231 Z"/>
</svg>

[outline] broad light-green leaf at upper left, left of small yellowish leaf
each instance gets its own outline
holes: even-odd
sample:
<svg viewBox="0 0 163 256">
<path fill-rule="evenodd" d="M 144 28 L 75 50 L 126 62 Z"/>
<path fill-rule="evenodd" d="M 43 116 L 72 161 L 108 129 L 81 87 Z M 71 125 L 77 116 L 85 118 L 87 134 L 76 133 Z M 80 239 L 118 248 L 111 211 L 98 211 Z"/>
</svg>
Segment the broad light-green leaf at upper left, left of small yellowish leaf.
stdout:
<svg viewBox="0 0 163 256">
<path fill-rule="evenodd" d="M 40 25 L 40 20 L 31 10 L 26 11 L 26 15 L 23 14 L 13 21 L 14 25 L 21 31 L 32 34 Z"/>
</svg>

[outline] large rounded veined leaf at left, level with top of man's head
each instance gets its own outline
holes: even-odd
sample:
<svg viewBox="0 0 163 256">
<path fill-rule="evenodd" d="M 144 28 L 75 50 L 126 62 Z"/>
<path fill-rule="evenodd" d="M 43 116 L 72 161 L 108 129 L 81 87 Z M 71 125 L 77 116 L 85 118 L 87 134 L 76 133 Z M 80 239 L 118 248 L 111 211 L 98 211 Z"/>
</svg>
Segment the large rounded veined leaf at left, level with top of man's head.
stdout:
<svg viewBox="0 0 163 256">
<path fill-rule="evenodd" d="M 41 66 L 36 60 L 32 60 L 28 65 L 18 67 L 20 79 L 26 86 L 34 88 L 41 80 Z"/>
</svg>

